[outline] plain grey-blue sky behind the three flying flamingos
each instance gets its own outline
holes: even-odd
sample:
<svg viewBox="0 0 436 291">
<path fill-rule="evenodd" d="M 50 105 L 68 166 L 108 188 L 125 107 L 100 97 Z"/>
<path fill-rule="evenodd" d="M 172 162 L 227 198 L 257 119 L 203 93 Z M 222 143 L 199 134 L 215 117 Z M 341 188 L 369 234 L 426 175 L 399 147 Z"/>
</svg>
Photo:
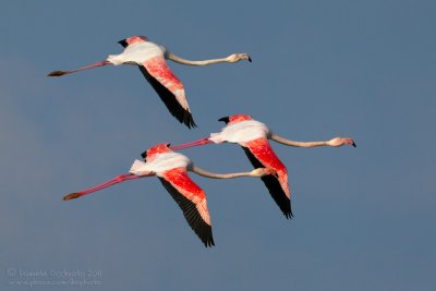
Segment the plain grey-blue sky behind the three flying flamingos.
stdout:
<svg viewBox="0 0 436 291">
<path fill-rule="evenodd" d="M 22 272 L 101 271 L 82 290 L 433 290 L 436 284 L 434 1 L 2 1 L 1 290 Z M 171 63 L 198 129 L 180 125 L 138 70 L 53 70 L 99 61 L 146 35 L 187 59 L 249 52 L 253 63 Z M 157 143 L 184 143 L 249 113 L 298 141 L 274 144 L 294 219 L 255 179 L 207 180 L 217 244 L 205 248 L 157 179 L 77 201 Z M 183 151 L 217 172 L 251 165 L 235 145 Z M 4 271 L 3 271 L 4 270 Z M 50 275 L 50 271 L 55 271 Z M 74 278 L 73 278 L 74 279 Z M 77 286 L 57 290 L 77 290 Z M 47 287 L 33 287 L 47 290 Z"/>
</svg>

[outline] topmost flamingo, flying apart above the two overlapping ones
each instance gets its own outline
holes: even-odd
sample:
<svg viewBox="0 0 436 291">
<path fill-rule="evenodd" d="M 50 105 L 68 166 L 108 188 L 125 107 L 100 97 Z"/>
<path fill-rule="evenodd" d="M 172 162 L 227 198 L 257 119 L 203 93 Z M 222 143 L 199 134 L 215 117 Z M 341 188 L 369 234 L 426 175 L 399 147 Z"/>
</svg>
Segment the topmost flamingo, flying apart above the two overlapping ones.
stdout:
<svg viewBox="0 0 436 291">
<path fill-rule="evenodd" d="M 124 47 L 120 54 L 111 54 L 106 60 L 99 61 L 76 70 L 53 71 L 48 76 L 62 76 L 83 70 L 104 66 L 108 64 L 134 64 L 137 65 L 145 78 L 159 95 L 160 99 L 167 106 L 170 113 L 189 129 L 196 128 L 191 109 L 184 93 L 182 82 L 172 73 L 166 59 L 187 65 L 208 65 L 220 62 L 238 62 L 241 60 L 252 61 L 247 53 L 233 53 L 222 59 L 211 59 L 204 61 L 191 61 L 182 59 L 164 46 L 148 40 L 145 36 L 132 36 L 118 41 Z"/>
</svg>

